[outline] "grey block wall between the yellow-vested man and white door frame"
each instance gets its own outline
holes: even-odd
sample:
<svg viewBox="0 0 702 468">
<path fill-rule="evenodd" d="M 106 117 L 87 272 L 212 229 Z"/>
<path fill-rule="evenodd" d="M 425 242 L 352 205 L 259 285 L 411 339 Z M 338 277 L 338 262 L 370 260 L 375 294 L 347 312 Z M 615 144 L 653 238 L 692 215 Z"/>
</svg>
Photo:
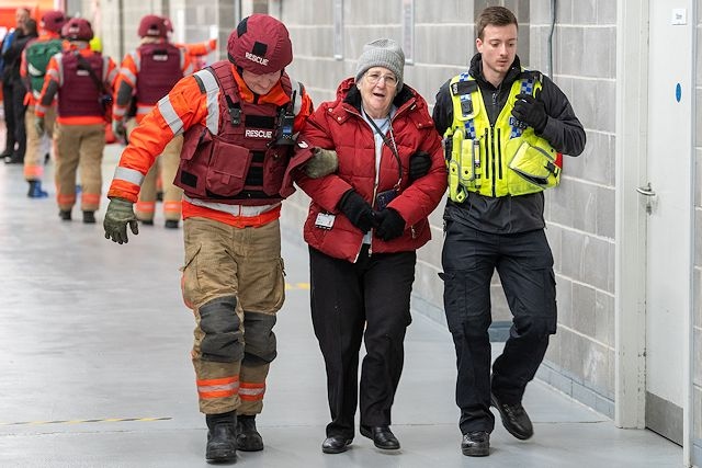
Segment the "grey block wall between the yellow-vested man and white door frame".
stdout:
<svg viewBox="0 0 702 468">
<path fill-rule="evenodd" d="M 530 4 L 529 65 L 546 70 L 551 1 Z M 562 185 L 547 192 L 559 318 L 539 377 L 612 418 L 616 2 L 562 0 L 555 18 L 552 78 L 588 142 L 580 157 L 565 158 Z"/>
</svg>

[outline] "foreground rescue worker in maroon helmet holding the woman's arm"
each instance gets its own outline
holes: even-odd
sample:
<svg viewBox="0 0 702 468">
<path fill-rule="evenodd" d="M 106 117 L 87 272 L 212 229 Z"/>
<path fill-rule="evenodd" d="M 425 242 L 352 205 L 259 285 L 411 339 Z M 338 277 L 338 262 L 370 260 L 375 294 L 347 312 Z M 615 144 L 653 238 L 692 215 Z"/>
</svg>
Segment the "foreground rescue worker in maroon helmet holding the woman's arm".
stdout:
<svg viewBox="0 0 702 468">
<path fill-rule="evenodd" d="M 293 50 L 280 21 L 244 19 L 227 52 L 229 60 L 181 79 L 134 129 L 104 219 L 105 237 L 115 242 L 127 242 L 127 225 L 138 232 L 139 185 L 182 134 L 174 182 L 184 190 L 182 288 L 195 316 L 192 359 L 208 427 L 205 457 L 213 461 L 234 459 L 237 448 L 263 448 L 256 415 L 284 299 L 281 202 L 294 190 L 291 171 L 307 159 L 291 160 L 293 133 L 313 111 L 284 70 Z"/>
</svg>

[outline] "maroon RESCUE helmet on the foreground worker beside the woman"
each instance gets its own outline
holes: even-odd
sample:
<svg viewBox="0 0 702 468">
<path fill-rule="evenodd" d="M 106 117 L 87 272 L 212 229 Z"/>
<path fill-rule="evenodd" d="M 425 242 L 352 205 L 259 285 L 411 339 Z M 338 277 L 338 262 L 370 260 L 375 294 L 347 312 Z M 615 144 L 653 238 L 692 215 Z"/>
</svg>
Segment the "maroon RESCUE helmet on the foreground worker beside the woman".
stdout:
<svg viewBox="0 0 702 468">
<path fill-rule="evenodd" d="M 241 20 L 227 42 L 229 61 L 256 75 L 280 71 L 293 61 L 293 44 L 283 23 L 268 14 Z"/>
</svg>

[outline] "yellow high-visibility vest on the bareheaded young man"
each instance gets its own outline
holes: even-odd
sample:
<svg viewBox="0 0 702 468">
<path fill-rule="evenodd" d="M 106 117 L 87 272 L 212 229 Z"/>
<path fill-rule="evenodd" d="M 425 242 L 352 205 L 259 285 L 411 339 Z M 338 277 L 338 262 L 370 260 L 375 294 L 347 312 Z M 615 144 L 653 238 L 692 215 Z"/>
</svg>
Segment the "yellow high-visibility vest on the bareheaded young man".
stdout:
<svg viewBox="0 0 702 468">
<path fill-rule="evenodd" d="M 532 127 L 512 115 L 516 96 L 541 89 L 541 73 L 523 71 L 490 125 L 477 82 L 468 73 L 450 83 L 453 122 L 444 134 L 449 196 L 462 203 L 467 192 L 486 196 L 525 195 L 558 185 L 561 155 Z"/>
</svg>

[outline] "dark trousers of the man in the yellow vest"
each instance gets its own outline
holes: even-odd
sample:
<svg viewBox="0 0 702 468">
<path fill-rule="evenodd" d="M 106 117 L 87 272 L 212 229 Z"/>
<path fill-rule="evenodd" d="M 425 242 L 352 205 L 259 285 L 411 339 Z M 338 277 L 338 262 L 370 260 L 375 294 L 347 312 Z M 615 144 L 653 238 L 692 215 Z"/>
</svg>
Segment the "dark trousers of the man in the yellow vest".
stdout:
<svg viewBox="0 0 702 468">
<path fill-rule="evenodd" d="M 556 332 L 553 255 L 543 229 L 517 235 L 446 225 L 442 253 L 444 309 L 456 351 L 456 403 L 462 433 L 491 432 L 490 391 L 521 402 Z M 490 279 L 497 270 L 512 313 L 510 336 L 492 365 Z"/>
</svg>

